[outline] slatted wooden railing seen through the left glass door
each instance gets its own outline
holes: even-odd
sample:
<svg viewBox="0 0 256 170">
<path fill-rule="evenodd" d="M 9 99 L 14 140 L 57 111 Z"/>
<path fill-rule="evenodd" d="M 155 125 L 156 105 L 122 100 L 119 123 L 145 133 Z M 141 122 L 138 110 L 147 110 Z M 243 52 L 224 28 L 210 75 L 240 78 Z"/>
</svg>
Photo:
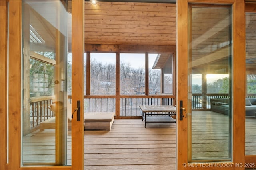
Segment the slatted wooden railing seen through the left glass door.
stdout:
<svg viewBox="0 0 256 170">
<path fill-rule="evenodd" d="M 38 126 L 40 122 L 54 117 L 50 110 L 54 96 L 38 96 L 30 98 L 30 128 Z"/>
</svg>

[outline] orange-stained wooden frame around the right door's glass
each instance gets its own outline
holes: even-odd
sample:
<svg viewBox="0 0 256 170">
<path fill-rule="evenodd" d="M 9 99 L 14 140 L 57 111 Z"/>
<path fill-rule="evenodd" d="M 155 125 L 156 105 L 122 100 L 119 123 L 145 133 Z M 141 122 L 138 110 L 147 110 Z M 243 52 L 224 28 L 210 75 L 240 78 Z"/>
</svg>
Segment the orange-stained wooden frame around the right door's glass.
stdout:
<svg viewBox="0 0 256 170">
<path fill-rule="evenodd" d="M 183 107 L 188 108 L 188 3 L 232 4 L 233 14 L 233 135 L 232 162 L 245 163 L 245 103 L 240 96 L 245 96 L 245 3 L 241 0 L 178 0 L 176 3 L 177 17 L 177 97 L 176 106 L 183 100 Z M 180 67 L 178 66 L 180 65 Z M 236 68 L 236 69 L 234 69 Z M 188 167 L 188 119 L 180 121 L 179 109 L 177 116 L 177 168 L 178 170 L 211 169 L 190 164 Z M 188 113 L 190 114 L 190 113 Z M 232 163 L 231 162 L 231 163 Z M 213 163 L 214 164 L 214 163 Z M 221 167 L 220 169 L 244 169 L 242 167 Z"/>
</svg>

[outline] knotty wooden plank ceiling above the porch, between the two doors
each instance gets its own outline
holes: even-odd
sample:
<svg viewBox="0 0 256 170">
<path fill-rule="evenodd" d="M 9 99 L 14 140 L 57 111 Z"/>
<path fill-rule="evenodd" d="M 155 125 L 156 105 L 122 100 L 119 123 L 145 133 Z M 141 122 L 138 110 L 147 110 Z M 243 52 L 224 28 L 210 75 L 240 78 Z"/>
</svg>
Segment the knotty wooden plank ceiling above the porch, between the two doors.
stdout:
<svg viewBox="0 0 256 170">
<path fill-rule="evenodd" d="M 87 44 L 176 44 L 176 4 L 86 1 L 84 18 Z"/>
</svg>

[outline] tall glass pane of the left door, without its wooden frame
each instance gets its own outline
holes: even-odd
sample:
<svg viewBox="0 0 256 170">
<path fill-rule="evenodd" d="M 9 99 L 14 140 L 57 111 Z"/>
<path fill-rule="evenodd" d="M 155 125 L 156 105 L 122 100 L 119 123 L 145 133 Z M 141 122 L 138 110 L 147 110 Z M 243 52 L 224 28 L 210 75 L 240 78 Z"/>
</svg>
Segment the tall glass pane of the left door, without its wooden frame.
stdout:
<svg viewBox="0 0 256 170">
<path fill-rule="evenodd" d="M 22 5 L 22 166 L 71 164 L 66 74 L 71 2 L 24 0 Z"/>
</svg>

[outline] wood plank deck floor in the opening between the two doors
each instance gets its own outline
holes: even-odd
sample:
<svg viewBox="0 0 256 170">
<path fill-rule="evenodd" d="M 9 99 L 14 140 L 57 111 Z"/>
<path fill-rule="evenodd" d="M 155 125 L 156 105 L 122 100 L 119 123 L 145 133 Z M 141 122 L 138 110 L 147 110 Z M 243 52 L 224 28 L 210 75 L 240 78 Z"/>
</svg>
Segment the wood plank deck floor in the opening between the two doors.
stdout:
<svg viewBox="0 0 256 170">
<path fill-rule="evenodd" d="M 176 125 L 117 119 L 109 132 L 85 131 L 86 170 L 172 170 L 176 163 Z"/>
</svg>

